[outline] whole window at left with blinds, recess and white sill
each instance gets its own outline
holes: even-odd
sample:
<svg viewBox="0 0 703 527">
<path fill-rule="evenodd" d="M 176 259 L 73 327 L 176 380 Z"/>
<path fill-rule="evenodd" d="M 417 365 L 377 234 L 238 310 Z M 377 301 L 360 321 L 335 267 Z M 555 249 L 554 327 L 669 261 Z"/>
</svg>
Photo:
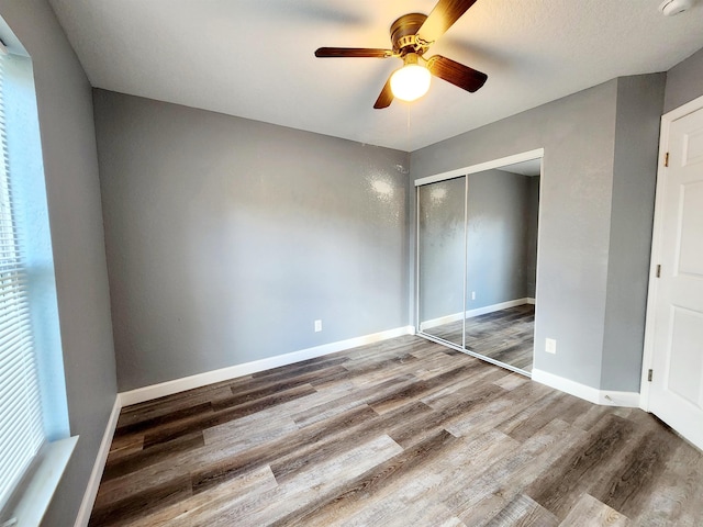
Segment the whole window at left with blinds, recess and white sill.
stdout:
<svg viewBox="0 0 703 527">
<path fill-rule="evenodd" d="M 77 438 L 32 60 L 1 18 L 0 41 L 0 525 L 22 526 L 40 524 Z"/>
</svg>

